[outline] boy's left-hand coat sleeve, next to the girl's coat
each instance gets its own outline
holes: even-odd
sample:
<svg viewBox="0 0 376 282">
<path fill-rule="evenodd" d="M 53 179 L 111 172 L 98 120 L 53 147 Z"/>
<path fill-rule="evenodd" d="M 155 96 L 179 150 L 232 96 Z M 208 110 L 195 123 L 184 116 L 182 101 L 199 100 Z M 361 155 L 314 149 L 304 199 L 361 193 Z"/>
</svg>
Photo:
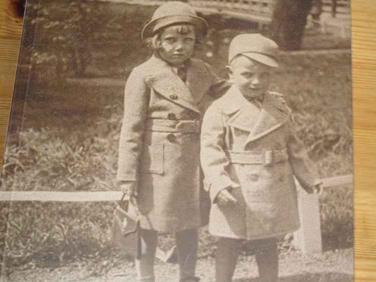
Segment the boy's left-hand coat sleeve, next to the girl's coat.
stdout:
<svg viewBox="0 0 376 282">
<path fill-rule="evenodd" d="M 223 125 L 222 112 L 217 105 L 218 103 L 214 103 L 207 110 L 201 131 L 201 165 L 212 202 L 222 189 L 240 186 L 226 171 L 229 165 L 224 151 L 226 128 Z"/>
</svg>

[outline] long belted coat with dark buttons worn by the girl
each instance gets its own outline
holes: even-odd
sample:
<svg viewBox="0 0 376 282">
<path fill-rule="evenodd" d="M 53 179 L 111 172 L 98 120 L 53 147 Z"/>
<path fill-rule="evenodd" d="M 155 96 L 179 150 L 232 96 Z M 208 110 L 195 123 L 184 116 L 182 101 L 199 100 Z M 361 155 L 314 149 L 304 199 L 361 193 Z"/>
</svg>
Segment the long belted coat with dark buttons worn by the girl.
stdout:
<svg viewBox="0 0 376 282">
<path fill-rule="evenodd" d="M 138 181 L 145 229 L 197 228 L 209 217 L 202 197 L 201 121 L 215 95 L 229 87 L 203 61 L 185 65 L 184 83 L 153 56 L 133 69 L 125 86 L 117 179 Z"/>
</svg>

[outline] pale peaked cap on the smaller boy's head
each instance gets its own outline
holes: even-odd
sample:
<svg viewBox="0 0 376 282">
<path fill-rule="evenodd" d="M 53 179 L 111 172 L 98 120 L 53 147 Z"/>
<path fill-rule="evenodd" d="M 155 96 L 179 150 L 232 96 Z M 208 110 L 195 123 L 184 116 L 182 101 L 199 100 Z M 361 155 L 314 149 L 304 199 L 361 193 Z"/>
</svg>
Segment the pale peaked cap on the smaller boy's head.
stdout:
<svg viewBox="0 0 376 282">
<path fill-rule="evenodd" d="M 270 67 L 278 67 L 278 45 L 261 34 L 241 34 L 231 41 L 229 63 L 242 54 Z"/>
</svg>

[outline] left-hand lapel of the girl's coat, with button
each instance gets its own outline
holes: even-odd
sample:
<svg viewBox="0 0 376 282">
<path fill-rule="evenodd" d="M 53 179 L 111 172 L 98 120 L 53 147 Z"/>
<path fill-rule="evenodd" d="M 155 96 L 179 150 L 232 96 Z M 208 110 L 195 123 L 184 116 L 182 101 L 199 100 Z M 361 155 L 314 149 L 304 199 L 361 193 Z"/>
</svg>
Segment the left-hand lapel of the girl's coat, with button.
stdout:
<svg viewBox="0 0 376 282">
<path fill-rule="evenodd" d="M 197 101 L 193 97 L 191 90 L 172 68 L 156 57 L 152 57 L 149 62 L 149 74 L 146 77 L 148 85 L 171 102 L 200 113 Z"/>
</svg>

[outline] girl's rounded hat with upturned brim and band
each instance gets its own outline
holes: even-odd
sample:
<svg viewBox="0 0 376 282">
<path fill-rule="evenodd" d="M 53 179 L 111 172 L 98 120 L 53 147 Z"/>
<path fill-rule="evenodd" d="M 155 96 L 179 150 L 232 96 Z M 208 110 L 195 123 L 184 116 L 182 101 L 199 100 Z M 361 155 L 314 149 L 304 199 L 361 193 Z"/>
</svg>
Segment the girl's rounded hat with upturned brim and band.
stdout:
<svg viewBox="0 0 376 282">
<path fill-rule="evenodd" d="M 207 22 L 198 17 L 191 6 L 171 1 L 155 10 L 151 21 L 142 30 L 142 39 L 150 38 L 161 28 L 174 24 L 194 25 L 200 36 L 205 36 L 208 30 Z"/>
</svg>

